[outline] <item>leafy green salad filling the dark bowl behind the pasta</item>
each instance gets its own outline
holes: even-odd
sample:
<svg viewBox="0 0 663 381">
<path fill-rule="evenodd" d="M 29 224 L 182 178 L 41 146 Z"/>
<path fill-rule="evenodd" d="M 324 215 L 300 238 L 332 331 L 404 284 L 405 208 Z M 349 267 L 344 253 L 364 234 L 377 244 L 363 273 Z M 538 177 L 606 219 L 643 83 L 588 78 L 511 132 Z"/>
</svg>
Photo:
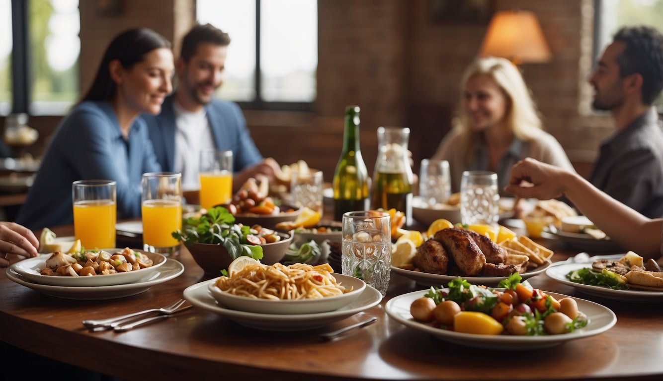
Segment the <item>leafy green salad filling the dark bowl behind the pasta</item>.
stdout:
<svg viewBox="0 0 663 381">
<path fill-rule="evenodd" d="M 233 224 L 234 222 L 235 216 L 226 208 L 215 206 L 202 216 L 184 219 L 184 232 L 172 232 L 172 237 L 182 241 L 187 247 L 192 247 L 194 243 L 223 245 L 232 259 L 245 255 L 256 260 L 263 258 L 261 245 L 281 239 L 273 230 L 259 225 L 249 227 Z"/>
</svg>

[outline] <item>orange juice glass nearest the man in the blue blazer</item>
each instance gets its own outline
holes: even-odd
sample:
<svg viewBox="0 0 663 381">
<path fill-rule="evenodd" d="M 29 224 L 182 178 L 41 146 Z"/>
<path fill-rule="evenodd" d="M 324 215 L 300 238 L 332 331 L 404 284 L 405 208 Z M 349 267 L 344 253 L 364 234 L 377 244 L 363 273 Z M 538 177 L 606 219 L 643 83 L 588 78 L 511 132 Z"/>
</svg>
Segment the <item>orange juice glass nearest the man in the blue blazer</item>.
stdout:
<svg viewBox="0 0 663 381">
<path fill-rule="evenodd" d="M 233 151 L 200 151 L 200 206 L 209 209 L 233 196 Z"/>
</svg>

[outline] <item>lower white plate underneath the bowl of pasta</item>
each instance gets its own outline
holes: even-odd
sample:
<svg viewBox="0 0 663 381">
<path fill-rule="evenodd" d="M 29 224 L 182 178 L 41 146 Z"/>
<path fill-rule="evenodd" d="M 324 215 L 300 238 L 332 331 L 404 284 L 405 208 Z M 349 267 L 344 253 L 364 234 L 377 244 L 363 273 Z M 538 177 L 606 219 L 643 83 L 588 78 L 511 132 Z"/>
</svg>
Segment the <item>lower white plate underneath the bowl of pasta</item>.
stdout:
<svg viewBox="0 0 663 381">
<path fill-rule="evenodd" d="M 357 300 L 336 311 L 298 315 L 257 314 L 255 312 L 228 310 L 217 304 L 216 300 L 211 296 L 210 290 L 208 290 L 212 282 L 215 282 L 215 279 L 189 286 L 184 290 L 184 299 L 196 307 L 225 316 L 246 327 L 265 329 L 267 331 L 304 331 L 306 329 L 324 327 L 334 321 L 349 318 L 354 314 L 376 306 L 382 300 L 382 295 L 378 290 L 371 286 L 366 286 Z"/>
</svg>

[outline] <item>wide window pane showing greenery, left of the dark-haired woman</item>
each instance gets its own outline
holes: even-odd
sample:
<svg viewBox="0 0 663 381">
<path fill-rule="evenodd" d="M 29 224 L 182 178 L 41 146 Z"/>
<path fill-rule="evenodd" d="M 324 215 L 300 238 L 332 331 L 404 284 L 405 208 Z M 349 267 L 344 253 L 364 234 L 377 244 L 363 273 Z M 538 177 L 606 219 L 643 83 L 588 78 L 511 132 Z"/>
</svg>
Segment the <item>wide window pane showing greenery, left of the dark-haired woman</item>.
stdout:
<svg viewBox="0 0 663 381">
<path fill-rule="evenodd" d="M 32 114 L 64 114 L 78 100 L 78 0 L 30 0 Z"/>
</svg>

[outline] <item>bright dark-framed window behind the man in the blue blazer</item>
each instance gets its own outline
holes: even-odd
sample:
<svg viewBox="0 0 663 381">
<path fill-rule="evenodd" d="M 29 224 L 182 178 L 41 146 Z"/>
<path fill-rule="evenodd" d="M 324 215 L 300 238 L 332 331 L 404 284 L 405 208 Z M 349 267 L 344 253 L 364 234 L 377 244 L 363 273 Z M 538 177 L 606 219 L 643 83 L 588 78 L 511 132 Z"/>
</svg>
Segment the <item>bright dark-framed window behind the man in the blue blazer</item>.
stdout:
<svg viewBox="0 0 663 381">
<path fill-rule="evenodd" d="M 311 0 L 197 0 L 198 22 L 231 38 L 217 95 L 245 109 L 312 110 L 317 13 Z"/>
</svg>

